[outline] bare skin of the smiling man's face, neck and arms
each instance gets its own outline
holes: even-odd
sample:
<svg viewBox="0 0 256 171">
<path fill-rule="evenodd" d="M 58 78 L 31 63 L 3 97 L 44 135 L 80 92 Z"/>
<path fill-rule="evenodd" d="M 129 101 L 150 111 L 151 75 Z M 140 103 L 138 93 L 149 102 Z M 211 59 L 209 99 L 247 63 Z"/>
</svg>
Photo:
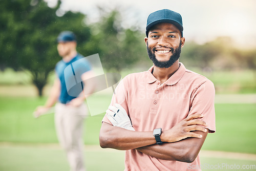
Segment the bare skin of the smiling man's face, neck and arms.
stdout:
<svg viewBox="0 0 256 171">
<path fill-rule="evenodd" d="M 155 55 L 159 61 L 168 60 L 173 53 L 169 47 L 176 49 L 180 41 L 183 47 L 185 38 L 181 37 L 176 26 L 168 23 L 156 25 L 148 33 L 148 38 L 145 37 L 148 47 L 156 48 Z M 163 83 L 178 69 L 179 61 L 177 60 L 169 68 L 154 66 L 153 75 Z M 164 143 L 161 145 L 156 144 L 153 131 L 129 131 L 103 122 L 99 135 L 100 146 L 121 150 L 137 149 L 141 153 L 158 159 L 193 162 L 208 134 L 208 129 L 203 127 L 207 124 L 201 118 L 203 116 L 200 114 L 192 114 L 172 129 L 163 130 L 160 138 Z"/>
</svg>

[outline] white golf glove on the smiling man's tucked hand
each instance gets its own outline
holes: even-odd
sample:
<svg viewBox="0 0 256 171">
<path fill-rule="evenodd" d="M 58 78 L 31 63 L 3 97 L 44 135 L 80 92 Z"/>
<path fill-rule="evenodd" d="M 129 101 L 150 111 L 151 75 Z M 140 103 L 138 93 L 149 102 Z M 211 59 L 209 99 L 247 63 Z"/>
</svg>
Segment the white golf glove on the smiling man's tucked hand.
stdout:
<svg viewBox="0 0 256 171">
<path fill-rule="evenodd" d="M 113 126 L 135 131 L 129 116 L 120 104 L 115 103 L 115 106 L 110 105 L 109 109 L 106 110 L 106 117 L 108 117 Z"/>
</svg>

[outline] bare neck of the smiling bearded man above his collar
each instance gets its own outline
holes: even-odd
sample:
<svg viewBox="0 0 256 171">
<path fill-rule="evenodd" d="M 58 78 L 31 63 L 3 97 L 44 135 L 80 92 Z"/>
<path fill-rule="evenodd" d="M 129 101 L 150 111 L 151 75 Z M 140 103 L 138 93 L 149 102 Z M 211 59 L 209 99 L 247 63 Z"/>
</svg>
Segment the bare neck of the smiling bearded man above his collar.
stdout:
<svg viewBox="0 0 256 171">
<path fill-rule="evenodd" d="M 154 65 L 153 75 L 157 80 L 160 80 L 161 84 L 171 77 L 180 67 L 179 60 L 174 62 L 169 68 L 159 68 Z"/>
</svg>

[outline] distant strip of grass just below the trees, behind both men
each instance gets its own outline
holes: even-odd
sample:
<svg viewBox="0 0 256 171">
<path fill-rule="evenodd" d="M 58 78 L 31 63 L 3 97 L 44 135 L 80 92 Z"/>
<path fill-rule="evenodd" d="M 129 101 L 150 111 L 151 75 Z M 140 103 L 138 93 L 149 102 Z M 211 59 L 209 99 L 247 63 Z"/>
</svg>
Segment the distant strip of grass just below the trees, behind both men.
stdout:
<svg viewBox="0 0 256 171">
<path fill-rule="evenodd" d="M 121 72 L 122 77 L 134 72 L 142 72 L 150 68 L 132 68 Z M 187 69 L 195 71 L 209 78 L 215 84 L 217 93 L 231 94 L 231 93 L 256 93 L 256 73 L 252 70 L 236 70 L 236 71 L 214 71 L 202 72 L 197 68 Z M 52 72 L 48 78 L 49 84 L 53 83 L 55 78 Z M 28 72 L 14 72 L 12 69 L 6 69 L 4 72 L 0 71 L 0 85 L 10 84 L 31 84 L 31 76 Z"/>
</svg>

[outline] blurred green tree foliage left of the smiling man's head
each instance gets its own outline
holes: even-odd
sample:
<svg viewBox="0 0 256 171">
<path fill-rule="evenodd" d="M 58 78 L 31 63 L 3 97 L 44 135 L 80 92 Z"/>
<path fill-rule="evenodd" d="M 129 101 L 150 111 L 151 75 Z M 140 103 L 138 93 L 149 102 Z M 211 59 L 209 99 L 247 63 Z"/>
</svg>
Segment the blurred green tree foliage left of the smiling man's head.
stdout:
<svg viewBox="0 0 256 171">
<path fill-rule="evenodd" d="M 49 8 L 42 0 L 0 1 L 0 67 L 29 71 L 40 96 L 49 73 L 61 59 L 56 37 L 63 30 L 76 34 L 82 55 L 99 53 L 106 70 L 121 71 L 145 55 L 143 44 L 138 43 L 141 33 L 122 28 L 118 10 L 108 13 L 99 8 L 99 22 L 88 26 L 81 13 L 56 16 L 59 5 Z M 91 34 L 91 30 L 98 33 Z"/>
</svg>

